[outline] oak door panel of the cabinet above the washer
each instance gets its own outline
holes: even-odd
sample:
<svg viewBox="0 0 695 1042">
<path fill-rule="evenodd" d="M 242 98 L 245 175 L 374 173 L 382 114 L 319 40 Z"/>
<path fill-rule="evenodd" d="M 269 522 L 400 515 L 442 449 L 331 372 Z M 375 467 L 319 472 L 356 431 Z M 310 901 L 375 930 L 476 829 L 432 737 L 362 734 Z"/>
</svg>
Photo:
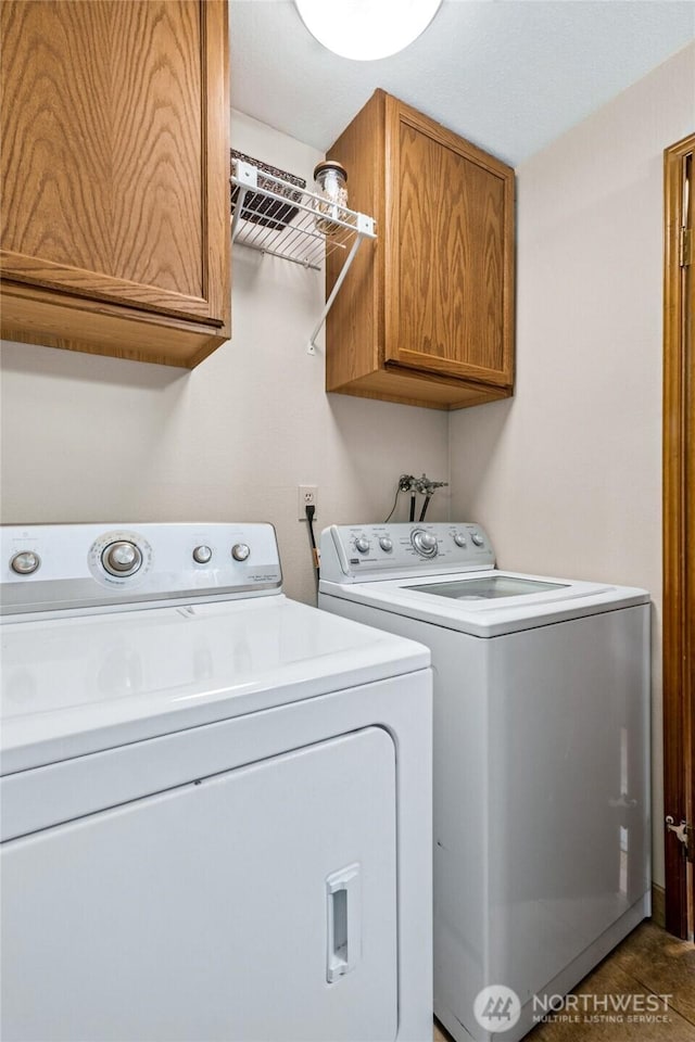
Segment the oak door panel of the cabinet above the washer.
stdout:
<svg viewBox="0 0 695 1042">
<path fill-rule="evenodd" d="M 387 97 L 387 365 L 510 386 L 514 171 Z"/>
</svg>

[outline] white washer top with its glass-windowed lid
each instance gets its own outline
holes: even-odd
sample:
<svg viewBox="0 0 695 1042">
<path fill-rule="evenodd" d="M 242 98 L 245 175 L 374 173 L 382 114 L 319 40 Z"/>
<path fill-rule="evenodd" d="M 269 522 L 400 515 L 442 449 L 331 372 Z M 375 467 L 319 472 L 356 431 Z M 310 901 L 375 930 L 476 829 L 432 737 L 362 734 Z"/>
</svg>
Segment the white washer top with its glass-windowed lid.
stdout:
<svg viewBox="0 0 695 1042">
<path fill-rule="evenodd" d="M 496 637 L 647 603 L 644 589 L 485 569 L 395 581 L 321 582 L 321 593 L 470 633 Z"/>
</svg>

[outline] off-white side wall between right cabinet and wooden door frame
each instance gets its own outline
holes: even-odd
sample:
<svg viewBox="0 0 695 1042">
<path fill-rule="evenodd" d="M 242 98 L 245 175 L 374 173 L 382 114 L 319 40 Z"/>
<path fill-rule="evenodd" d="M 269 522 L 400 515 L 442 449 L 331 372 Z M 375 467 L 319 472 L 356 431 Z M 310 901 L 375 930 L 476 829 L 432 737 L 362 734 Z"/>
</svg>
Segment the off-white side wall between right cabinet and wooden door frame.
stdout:
<svg viewBox="0 0 695 1042">
<path fill-rule="evenodd" d="M 516 396 L 450 429 L 452 517 L 503 567 L 652 592 L 659 884 L 662 151 L 694 114 L 691 46 L 519 168 Z"/>
</svg>

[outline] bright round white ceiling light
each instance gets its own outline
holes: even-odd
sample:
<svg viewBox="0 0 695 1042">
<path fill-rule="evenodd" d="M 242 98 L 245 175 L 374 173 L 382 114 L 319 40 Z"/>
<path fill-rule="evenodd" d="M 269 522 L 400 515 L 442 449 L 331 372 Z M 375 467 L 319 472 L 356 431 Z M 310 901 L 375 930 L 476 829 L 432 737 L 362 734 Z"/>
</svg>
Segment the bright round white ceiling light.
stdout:
<svg viewBox="0 0 695 1042">
<path fill-rule="evenodd" d="M 294 0 L 319 43 L 341 58 L 389 58 L 425 31 L 442 0 Z"/>
</svg>

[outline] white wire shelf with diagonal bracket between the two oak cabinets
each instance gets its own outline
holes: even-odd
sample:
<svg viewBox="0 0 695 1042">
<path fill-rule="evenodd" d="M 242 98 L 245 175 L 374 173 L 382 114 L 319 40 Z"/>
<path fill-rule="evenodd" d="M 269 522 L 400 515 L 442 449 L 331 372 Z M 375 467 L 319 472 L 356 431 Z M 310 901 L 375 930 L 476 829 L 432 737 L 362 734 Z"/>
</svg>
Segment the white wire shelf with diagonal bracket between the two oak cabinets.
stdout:
<svg viewBox="0 0 695 1042">
<path fill-rule="evenodd" d="M 344 253 L 343 265 L 308 340 L 306 351 L 313 355 L 316 338 L 362 242 L 377 238 L 374 218 L 328 203 L 321 195 L 240 160 L 235 162 L 230 181 L 232 243 L 314 271 L 321 270 L 330 253 Z"/>
</svg>

